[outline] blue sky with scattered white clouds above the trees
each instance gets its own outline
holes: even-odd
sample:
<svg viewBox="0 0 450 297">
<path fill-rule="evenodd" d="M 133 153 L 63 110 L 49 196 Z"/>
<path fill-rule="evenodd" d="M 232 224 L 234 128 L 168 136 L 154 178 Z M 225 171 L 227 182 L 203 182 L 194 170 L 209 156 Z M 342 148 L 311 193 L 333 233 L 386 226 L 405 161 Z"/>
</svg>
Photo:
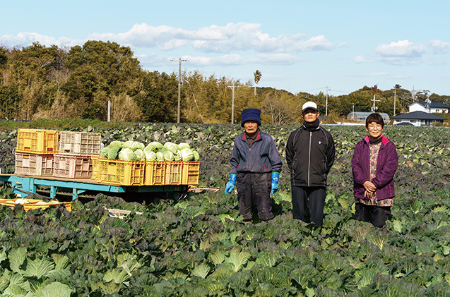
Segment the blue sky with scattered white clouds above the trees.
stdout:
<svg viewBox="0 0 450 297">
<path fill-rule="evenodd" d="M 0 45 L 129 46 L 148 71 L 200 71 L 292 93 L 378 85 L 450 95 L 450 2 L 6 1 Z"/>
</svg>

